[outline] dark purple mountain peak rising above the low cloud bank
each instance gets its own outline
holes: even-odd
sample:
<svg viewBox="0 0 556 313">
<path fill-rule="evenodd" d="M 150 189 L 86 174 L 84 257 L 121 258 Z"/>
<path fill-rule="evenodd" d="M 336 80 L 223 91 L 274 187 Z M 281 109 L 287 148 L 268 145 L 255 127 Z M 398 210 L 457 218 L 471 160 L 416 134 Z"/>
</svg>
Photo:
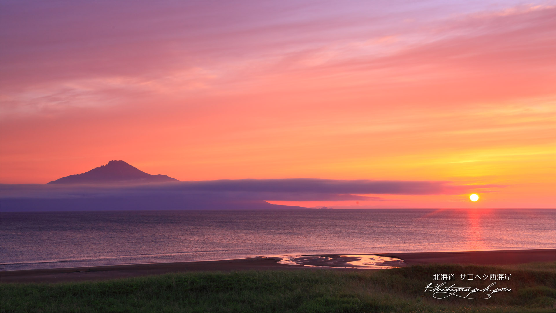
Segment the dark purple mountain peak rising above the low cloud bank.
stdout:
<svg viewBox="0 0 556 313">
<path fill-rule="evenodd" d="M 99 184 L 99 183 L 163 183 L 178 182 L 167 175 L 147 174 L 122 160 L 112 160 L 89 172 L 69 175 L 48 184 Z"/>
</svg>

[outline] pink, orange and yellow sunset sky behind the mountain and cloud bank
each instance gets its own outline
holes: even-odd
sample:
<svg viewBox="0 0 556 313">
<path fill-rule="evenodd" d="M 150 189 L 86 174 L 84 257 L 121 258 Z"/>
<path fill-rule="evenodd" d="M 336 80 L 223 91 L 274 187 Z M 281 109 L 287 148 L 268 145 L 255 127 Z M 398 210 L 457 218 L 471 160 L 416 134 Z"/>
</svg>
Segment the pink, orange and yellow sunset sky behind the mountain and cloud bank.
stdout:
<svg viewBox="0 0 556 313">
<path fill-rule="evenodd" d="M 494 186 L 276 204 L 556 207 L 554 1 L 0 6 L 1 183 L 125 160 L 179 180 Z"/>
</svg>

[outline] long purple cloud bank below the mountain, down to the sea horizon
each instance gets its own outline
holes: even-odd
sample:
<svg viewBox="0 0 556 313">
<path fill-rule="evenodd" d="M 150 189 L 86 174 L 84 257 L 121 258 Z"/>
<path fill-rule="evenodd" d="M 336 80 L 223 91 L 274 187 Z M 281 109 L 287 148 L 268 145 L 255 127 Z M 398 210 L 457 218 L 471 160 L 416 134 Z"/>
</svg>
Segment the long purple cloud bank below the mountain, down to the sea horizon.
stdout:
<svg viewBox="0 0 556 313">
<path fill-rule="evenodd" d="M 503 186 L 309 178 L 208 180 L 134 185 L 1 184 L 0 209 L 3 212 L 281 209 L 299 207 L 279 206 L 265 201 L 385 201 L 368 194 L 461 194 L 493 187 Z"/>
</svg>

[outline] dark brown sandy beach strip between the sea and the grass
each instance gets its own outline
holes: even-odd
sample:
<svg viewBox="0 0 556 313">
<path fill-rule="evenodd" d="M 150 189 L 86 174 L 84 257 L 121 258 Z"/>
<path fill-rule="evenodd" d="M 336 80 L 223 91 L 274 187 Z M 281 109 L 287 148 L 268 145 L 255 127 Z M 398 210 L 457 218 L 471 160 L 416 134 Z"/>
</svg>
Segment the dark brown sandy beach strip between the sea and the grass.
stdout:
<svg viewBox="0 0 556 313">
<path fill-rule="evenodd" d="M 348 255 L 347 253 L 345 255 Z M 353 254 L 350 254 L 353 256 Z M 361 254 L 363 255 L 363 254 Z M 556 261 L 556 249 L 534 250 L 494 250 L 494 251 L 456 251 L 456 252 L 400 252 L 365 253 L 384 257 L 400 258 L 405 265 L 430 263 L 455 263 L 460 265 L 513 265 L 529 262 Z M 307 255 L 309 256 L 309 255 Z M 310 255 L 335 257 L 341 260 L 342 254 Z M 110 280 L 135 276 L 161 275 L 171 272 L 190 271 L 245 271 L 245 270 L 340 270 L 376 271 L 369 268 L 335 266 L 326 263 L 311 263 L 313 266 L 278 263 L 280 257 L 252 257 L 220 261 L 192 261 L 171 263 L 142 263 L 131 265 L 108 265 L 90 267 L 48 268 L 44 270 L 1 271 L 1 282 L 69 282 Z M 323 266 L 323 267 L 320 267 Z"/>
</svg>

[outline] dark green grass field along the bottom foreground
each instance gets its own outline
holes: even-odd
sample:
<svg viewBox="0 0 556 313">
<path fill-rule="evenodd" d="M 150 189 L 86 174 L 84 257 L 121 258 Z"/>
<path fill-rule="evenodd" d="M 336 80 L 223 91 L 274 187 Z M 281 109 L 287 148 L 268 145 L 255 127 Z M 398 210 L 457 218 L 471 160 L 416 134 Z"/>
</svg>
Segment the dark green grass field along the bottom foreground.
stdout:
<svg viewBox="0 0 556 313">
<path fill-rule="evenodd" d="M 1 312 L 554 312 L 556 263 L 382 271 L 187 272 L 78 283 L 2 283 Z M 435 273 L 511 273 L 487 300 L 434 299 Z M 492 282 L 492 281 L 491 281 Z M 486 287 L 486 281 L 453 282 Z M 479 294 L 479 293 L 476 293 Z"/>
</svg>

